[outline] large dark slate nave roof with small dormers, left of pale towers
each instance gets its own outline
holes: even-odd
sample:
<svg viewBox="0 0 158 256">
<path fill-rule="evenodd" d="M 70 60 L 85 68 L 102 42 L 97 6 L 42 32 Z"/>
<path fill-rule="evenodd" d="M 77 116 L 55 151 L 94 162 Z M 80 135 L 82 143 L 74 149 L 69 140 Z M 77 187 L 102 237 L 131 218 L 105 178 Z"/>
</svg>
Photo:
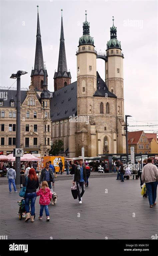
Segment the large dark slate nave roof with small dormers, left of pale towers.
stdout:
<svg viewBox="0 0 158 256">
<path fill-rule="evenodd" d="M 51 121 L 77 115 L 77 81 L 55 92 L 50 99 Z"/>
</svg>

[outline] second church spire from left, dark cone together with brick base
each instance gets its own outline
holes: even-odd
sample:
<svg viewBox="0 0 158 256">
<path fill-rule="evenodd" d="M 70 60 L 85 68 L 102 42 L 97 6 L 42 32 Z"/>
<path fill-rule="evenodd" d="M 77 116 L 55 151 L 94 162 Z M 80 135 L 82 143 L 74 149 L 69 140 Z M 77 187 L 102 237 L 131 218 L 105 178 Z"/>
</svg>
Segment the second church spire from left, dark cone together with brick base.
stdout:
<svg viewBox="0 0 158 256">
<path fill-rule="evenodd" d="M 61 9 L 61 12 L 63 9 Z M 63 16 L 61 13 L 61 32 L 60 32 L 60 47 L 59 47 L 59 59 L 58 70 L 54 74 L 54 91 L 69 85 L 71 83 L 71 74 L 67 72 L 66 52 L 65 52 L 65 39 L 63 29 Z"/>
</svg>

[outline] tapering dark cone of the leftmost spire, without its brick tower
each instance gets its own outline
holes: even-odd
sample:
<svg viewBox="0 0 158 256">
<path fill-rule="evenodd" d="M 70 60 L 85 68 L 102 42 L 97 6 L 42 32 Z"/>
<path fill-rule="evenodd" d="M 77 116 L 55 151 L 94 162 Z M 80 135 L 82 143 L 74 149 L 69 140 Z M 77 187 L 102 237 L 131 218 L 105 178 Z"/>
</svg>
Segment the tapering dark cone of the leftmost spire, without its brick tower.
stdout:
<svg viewBox="0 0 158 256">
<path fill-rule="evenodd" d="M 37 5 L 38 7 L 38 5 Z M 34 70 L 40 71 L 44 70 L 43 63 L 43 52 L 42 52 L 42 42 L 41 42 L 41 32 L 40 32 L 40 23 L 39 23 L 39 14 L 37 13 L 37 35 L 36 35 L 36 53 L 35 53 L 35 65 Z"/>
</svg>

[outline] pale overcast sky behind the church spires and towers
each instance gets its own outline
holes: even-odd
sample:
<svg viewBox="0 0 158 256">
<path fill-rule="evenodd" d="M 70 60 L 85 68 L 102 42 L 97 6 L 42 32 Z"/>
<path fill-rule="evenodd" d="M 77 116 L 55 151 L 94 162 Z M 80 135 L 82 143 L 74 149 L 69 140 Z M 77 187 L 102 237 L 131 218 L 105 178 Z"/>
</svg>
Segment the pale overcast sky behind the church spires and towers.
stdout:
<svg viewBox="0 0 158 256">
<path fill-rule="evenodd" d="M 54 91 L 54 71 L 58 66 L 61 8 L 63 9 L 67 68 L 72 82 L 76 81 L 76 49 L 82 36 L 82 25 L 90 22 L 90 35 L 97 51 L 105 52 L 110 40 L 112 16 L 117 27 L 117 39 L 124 53 L 125 114 L 130 119 L 158 124 L 157 81 L 157 1 L 0 1 L 0 86 L 10 87 L 17 70 L 26 70 L 21 87 L 29 87 L 34 67 L 37 4 L 43 58 L 48 73 L 48 89 Z M 97 59 L 97 71 L 105 79 L 105 62 Z M 16 87 L 16 83 L 13 85 Z M 129 119 L 129 125 L 136 122 Z M 146 125 L 146 123 L 137 123 Z M 156 127 L 129 127 L 129 130 L 150 130 Z"/>
</svg>

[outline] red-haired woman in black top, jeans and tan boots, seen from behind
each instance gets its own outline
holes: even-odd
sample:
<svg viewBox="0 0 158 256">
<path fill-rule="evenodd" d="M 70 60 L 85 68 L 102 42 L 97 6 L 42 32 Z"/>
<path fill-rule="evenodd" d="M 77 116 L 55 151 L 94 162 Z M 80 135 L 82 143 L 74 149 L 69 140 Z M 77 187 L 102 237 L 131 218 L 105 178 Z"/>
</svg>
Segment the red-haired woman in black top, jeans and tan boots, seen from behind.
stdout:
<svg viewBox="0 0 158 256">
<path fill-rule="evenodd" d="M 31 206 L 31 222 L 34 222 L 35 201 L 37 197 L 36 189 L 39 187 L 39 180 L 34 168 L 31 168 L 29 170 L 29 175 L 25 178 L 23 186 L 26 186 L 25 210 L 26 210 L 27 217 L 25 221 L 28 221 L 30 219 L 30 206 Z"/>
</svg>

